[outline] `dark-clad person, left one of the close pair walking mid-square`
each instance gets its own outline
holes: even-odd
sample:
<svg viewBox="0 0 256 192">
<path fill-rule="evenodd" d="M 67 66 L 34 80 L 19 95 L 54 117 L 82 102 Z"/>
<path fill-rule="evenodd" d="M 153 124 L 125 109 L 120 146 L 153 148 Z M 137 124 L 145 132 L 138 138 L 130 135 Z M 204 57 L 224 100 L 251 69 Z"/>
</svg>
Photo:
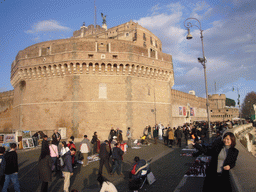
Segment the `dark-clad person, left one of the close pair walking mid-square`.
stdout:
<svg viewBox="0 0 256 192">
<path fill-rule="evenodd" d="M 100 145 L 100 167 L 99 167 L 99 175 L 102 175 L 102 169 L 103 165 L 105 165 L 108 174 L 111 172 L 111 168 L 109 166 L 109 156 L 110 156 L 110 148 L 108 144 L 108 140 L 105 140 L 101 145 Z"/>
</svg>

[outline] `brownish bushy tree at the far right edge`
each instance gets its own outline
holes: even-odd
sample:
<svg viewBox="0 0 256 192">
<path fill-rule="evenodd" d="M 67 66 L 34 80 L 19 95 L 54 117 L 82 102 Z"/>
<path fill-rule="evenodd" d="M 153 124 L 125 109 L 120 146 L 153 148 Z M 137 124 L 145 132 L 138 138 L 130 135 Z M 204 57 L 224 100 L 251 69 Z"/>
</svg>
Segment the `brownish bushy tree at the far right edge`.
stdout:
<svg viewBox="0 0 256 192">
<path fill-rule="evenodd" d="M 256 104 L 256 93 L 254 91 L 247 93 L 241 108 L 242 117 L 245 119 L 252 118 L 255 115 L 253 104 Z"/>
</svg>

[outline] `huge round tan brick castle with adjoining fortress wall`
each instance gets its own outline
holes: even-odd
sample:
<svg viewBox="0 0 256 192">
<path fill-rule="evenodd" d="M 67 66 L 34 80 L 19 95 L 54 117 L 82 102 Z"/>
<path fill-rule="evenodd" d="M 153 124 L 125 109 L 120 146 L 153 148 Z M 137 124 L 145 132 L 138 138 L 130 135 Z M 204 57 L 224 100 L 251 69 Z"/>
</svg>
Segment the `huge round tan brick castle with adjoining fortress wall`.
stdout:
<svg viewBox="0 0 256 192">
<path fill-rule="evenodd" d="M 172 89 L 172 56 L 133 21 L 110 29 L 104 19 L 83 24 L 71 38 L 19 51 L 11 84 L 14 90 L 0 93 L 0 132 L 65 127 L 67 136 L 97 131 L 105 140 L 112 127 L 131 127 L 139 137 L 146 125 L 207 119 L 206 99 Z M 238 116 L 225 108 L 225 95 L 209 99 L 211 121 Z"/>
</svg>

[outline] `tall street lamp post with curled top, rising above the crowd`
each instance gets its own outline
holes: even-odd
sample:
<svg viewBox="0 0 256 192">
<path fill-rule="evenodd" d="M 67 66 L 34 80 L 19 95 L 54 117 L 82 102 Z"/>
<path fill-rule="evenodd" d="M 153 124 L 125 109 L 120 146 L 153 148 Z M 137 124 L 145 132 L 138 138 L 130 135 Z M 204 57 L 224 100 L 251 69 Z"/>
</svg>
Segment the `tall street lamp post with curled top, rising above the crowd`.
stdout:
<svg viewBox="0 0 256 192">
<path fill-rule="evenodd" d="M 198 25 L 192 24 L 191 22 L 189 22 L 189 20 L 196 20 L 199 23 Z M 201 27 L 201 22 L 196 19 L 196 18 L 188 18 L 184 21 L 184 26 L 187 28 L 188 30 L 188 35 L 186 37 L 186 39 L 192 39 L 192 35 L 190 34 L 190 28 L 195 26 L 199 29 L 200 31 L 200 38 L 201 38 L 201 42 L 202 42 L 202 52 L 203 52 L 203 58 L 198 58 L 198 62 L 201 63 L 203 65 L 204 68 L 204 81 L 205 81 L 205 92 L 206 92 L 206 109 L 207 109 L 207 119 L 208 119 L 208 132 L 209 132 L 209 141 L 210 143 L 212 143 L 212 130 L 211 130 L 211 123 L 210 123 L 210 112 L 209 112 L 209 99 L 208 99 L 208 87 L 207 87 L 207 76 L 206 76 L 206 57 L 204 56 L 204 41 L 203 41 L 203 30 Z"/>
</svg>

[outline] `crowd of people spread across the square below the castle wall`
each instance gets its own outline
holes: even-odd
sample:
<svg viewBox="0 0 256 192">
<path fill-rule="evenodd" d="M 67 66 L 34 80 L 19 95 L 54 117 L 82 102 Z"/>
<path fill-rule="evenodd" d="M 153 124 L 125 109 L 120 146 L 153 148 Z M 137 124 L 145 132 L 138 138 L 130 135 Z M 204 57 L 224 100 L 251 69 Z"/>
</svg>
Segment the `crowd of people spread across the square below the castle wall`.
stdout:
<svg viewBox="0 0 256 192">
<path fill-rule="evenodd" d="M 164 127 L 162 124 L 152 126 L 151 128 L 151 126 L 148 125 L 143 130 L 141 143 L 147 143 L 149 139 L 152 139 L 154 144 L 157 144 L 160 135 L 163 138 L 164 145 L 168 147 L 173 147 L 174 145 L 181 147 L 182 138 L 184 138 L 186 145 L 188 145 L 188 140 L 193 139 L 193 146 L 198 149 L 199 154 L 209 154 L 215 158 L 214 161 L 217 162 L 218 166 L 217 171 L 214 170 L 214 179 L 216 181 L 220 181 L 220 179 L 227 181 L 226 171 L 235 166 L 238 150 L 235 149 L 234 135 L 225 134 L 222 139 L 222 133 L 235 125 L 236 122 L 231 121 L 211 123 L 211 130 L 216 133 L 212 148 L 208 147 L 209 144 L 206 140 L 207 132 L 209 131 L 207 122 L 186 123 L 177 128 L 171 128 L 169 125 Z M 161 134 L 159 134 L 160 131 Z M 52 181 L 52 172 L 54 171 L 61 172 L 64 178 L 63 191 L 69 191 L 70 177 L 73 175 L 73 170 L 77 167 L 77 160 L 82 160 L 83 166 L 87 166 L 89 154 L 96 153 L 99 154 L 100 158 L 97 180 L 102 189 L 115 191 L 115 186 L 103 176 L 103 166 L 105 166 L 109 176 L 114 176 L 115 173 L 123 175 L 122 160 L 124 150 L 121 148 L 121 144 L 124 140 L 122 134 L 123 132 L 119 128 L 116 130 L 112 128 L 108 140 L 104 142 L 100 142 L 97 132 L 94 132 L 91 141 L 88 139 L 87 135 L 84 135 L 79 149 L 76 149 L 74 137 L 72 136 L 67 142 L 61 142 L 61 135 L 55 130 L 52 135 L 51 143 L 49 144 L 48 136 L 44 135 L 38 161 L 38 173 L 42 181 L 41 191 L 48 191 L 48 183 Z M 128 146 L 131 146 L 133 140 L 130 128 L 127 129 L 126 137 L 128 138 Z M 61 149 L 59 150 L 58 146 L 60 142 Z M 15 191 L 19 192 L 17 145 L 12 143 L 10 147 L 11 150 L 7 153 L 5 153 L 4 147 L 0 147 L 0 187 L 2 187 L 3 192 L 6 192 L 9 182 L 12 181 Z M 232 154 L 231 157 L 229 153 Z M 130 174 L 132 174 L 132 171 Z M 209 172 L 208 175 L 212 174 L 212 172 Z M 206 180 L 206 182 L 209 182 L 209 180 Z"/>
</svg>

